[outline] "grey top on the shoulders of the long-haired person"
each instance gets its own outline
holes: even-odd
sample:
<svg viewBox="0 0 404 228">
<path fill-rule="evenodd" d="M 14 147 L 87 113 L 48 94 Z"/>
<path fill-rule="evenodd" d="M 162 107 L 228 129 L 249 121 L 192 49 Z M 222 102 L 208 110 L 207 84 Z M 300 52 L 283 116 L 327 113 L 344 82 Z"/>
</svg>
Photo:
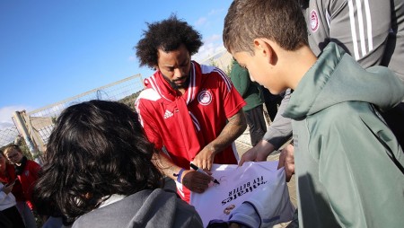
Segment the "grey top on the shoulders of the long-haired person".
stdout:
<svg viewBox="0 0 404 228">
<path fill-rule="evenodd" d="M 197 216 L 193 206 L 167 189 L 142 190 L 79 217 L 75 227 L 189 227 Z M 197 220 L 197 221 L 198 221 Z M 180 223 L 183 226 L 178 226 Z M 200 221 L 202 224 L 202 221 Z M 198 224 L 196 224 L 196 227 Z"/>
</svg>

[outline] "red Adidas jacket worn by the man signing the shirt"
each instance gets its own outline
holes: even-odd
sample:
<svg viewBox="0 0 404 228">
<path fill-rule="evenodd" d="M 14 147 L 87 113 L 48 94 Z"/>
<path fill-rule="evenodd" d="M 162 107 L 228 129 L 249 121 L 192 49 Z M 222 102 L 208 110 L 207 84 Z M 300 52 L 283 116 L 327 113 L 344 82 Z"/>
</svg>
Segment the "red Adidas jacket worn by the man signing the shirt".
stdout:
<svg viewBox="0 0 404 228">
<path fill-rule="evenodd" d="M 223 130 L 227 118 L 245 105 L 224 72 L 192 62 L 189 87 L 178 94 L 157 71 L 145 79 L 146 89 L 136 100 L 136 110 L 148 139 L 157 149 L 165 147 L 172 162 L 189 169 L 189 162 Z M 215 155 L 215 163 L 236 164 L 235 146 Z M 183 199 L 189 190 L 183 188 Z M 188 201 L 188 200 L 187 200 Z"/>
</svg>

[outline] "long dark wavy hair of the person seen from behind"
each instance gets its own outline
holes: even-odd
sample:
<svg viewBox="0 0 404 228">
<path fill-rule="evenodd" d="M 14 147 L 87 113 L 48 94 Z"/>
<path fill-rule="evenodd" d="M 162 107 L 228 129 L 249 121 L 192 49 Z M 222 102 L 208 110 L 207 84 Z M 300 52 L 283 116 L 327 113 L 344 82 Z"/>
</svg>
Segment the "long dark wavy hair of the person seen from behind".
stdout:
<svg viewBox="0 0 404 228">
<path fill-rule="evenodd" d="M 40 214 L 77 216 L 112 194 L 128 196 L 163 185 L 154 145 L 136 112 L 115 101 L 86 101 L 57 118 L 34 189 Z"/>
</svg>

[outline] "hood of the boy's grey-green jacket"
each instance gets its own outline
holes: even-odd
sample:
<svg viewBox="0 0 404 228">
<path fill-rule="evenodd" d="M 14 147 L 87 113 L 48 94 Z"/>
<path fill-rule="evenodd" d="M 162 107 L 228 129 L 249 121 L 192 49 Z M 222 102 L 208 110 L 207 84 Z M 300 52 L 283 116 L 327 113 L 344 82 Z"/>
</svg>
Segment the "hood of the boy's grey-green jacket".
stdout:
<svg viewBox="0 0 404 228">
<path fill-rule="evenodd" d="M 387 67 L 362 68 L 330 42 L 294 93 L 284 116 L 302 119 L 344 101 L 364 101 L 389 110 L 403 100 L 404 84 Z"/>
</svg>

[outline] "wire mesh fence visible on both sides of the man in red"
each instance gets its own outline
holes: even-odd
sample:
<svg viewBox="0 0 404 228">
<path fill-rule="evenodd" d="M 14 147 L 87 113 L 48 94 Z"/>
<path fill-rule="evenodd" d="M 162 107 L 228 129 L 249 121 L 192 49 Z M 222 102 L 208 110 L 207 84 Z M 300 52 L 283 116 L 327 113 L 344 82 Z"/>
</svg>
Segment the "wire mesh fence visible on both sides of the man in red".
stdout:
<svg viewBox="0 0 404 228">
<path fill-rule="evenodd" d="M 232 55 L 223 49 L 218 51 L 213 57 L 208 57 L 205 60 L 200 61 L 200 63 L 204 65 L 218 66 L 224 70 L 226 74 L 229 74 L 232 58 Z M 119 82 L 110 83 L 90 92 L 84 92 L 75 97 L 66 99 L 65 101 L 59 101 L 44 108 L 40 108 L 39 110 L 33 110 L 30 112 L 22 111 L 22 118 L 28 128 L 32 141 L 38 146 L 37 149 L 43 152 L 45 145 L 48 143 L 48 137 L 50 136 L 57 117 L 67 107 L 83 101 L 97 99 L 120 101 L 127 104 L 132 109 L 135 109 L 134 101 L 143 88 L 142 76 L 133 75 L 120 80 Z M 20 128 L 7 127 L 0 129 L 0 147 L 13 143 L 16 136 L 20 135 L 18 129 Z"/>
</svg>

